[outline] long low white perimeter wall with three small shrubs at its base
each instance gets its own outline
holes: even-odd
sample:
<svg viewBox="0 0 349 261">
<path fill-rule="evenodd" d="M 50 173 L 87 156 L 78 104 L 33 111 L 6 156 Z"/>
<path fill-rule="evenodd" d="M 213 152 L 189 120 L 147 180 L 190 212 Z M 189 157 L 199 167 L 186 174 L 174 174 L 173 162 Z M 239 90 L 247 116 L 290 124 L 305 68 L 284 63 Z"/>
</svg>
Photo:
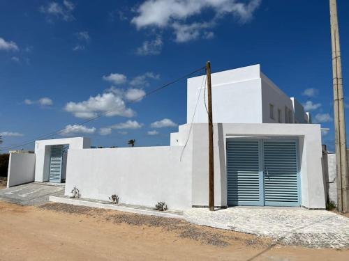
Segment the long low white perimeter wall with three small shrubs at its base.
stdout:
<svg viewBox="0 0 349 261">
<path fill-rule="evenodd" d="M 191 207 L 191 148 L 104 148 L 68 150 L 66 195 L 74 186 L 82 198 L 155 207 L 164 201 L 170 209 Z"/>
</svg>

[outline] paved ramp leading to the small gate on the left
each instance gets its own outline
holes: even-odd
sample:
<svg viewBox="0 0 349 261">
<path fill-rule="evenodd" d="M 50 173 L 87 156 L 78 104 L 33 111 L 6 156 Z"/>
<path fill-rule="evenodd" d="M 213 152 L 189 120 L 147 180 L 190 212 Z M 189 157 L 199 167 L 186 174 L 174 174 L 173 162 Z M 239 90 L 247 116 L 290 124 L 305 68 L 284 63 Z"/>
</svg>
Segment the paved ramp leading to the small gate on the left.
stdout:
<svg viewBox="0 0 349 261">
<path fill-rule="evenodd" d="M 63 196 L 64 184 L 32 182 L 8 189 L 0 189 L 0 200 L 21 205 L 45 204 L 52 195 Z"/>
</svg>

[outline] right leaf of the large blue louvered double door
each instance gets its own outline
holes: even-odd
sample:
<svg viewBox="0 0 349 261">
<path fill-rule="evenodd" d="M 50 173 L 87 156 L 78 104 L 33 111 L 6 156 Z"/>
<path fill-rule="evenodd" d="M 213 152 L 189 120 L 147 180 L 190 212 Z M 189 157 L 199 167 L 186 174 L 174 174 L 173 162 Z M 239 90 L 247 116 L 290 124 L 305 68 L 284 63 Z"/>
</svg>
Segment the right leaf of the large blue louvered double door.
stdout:
<svg viewBox="0 0 349 261">
<path fill-rule="evenodd" d="M 263 141 L 265 205 L 299 206 L 296 141 Z"/>
</svg>

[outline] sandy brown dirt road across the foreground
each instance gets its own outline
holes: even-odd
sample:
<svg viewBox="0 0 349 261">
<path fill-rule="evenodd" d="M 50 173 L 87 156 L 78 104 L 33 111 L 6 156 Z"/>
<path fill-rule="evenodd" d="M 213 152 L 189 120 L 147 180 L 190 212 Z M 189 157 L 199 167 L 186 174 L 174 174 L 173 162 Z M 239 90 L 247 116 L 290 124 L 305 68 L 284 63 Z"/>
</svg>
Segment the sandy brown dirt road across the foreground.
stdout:
<svg viewBox="0 0 349 261">
<path fill-rule="evenodd" d="M 349 250 L 279 246 L 179 219 L 0 201 L 0 260 L 348 260 Z"/>
</svg>

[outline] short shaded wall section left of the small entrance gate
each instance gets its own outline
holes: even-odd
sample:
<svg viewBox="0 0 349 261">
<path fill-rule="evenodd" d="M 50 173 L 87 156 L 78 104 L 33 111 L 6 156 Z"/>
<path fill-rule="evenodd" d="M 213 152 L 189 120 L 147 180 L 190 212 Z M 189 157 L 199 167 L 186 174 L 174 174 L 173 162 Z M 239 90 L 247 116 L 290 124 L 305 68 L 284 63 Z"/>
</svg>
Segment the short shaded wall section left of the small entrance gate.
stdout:
<svg viewBox="0 0 349 261">
<path fill-rule="evenodd" d="M 33 182 L 35 171 L 34 153 L 10 153 L 7 187 Z"/>
</svg>

